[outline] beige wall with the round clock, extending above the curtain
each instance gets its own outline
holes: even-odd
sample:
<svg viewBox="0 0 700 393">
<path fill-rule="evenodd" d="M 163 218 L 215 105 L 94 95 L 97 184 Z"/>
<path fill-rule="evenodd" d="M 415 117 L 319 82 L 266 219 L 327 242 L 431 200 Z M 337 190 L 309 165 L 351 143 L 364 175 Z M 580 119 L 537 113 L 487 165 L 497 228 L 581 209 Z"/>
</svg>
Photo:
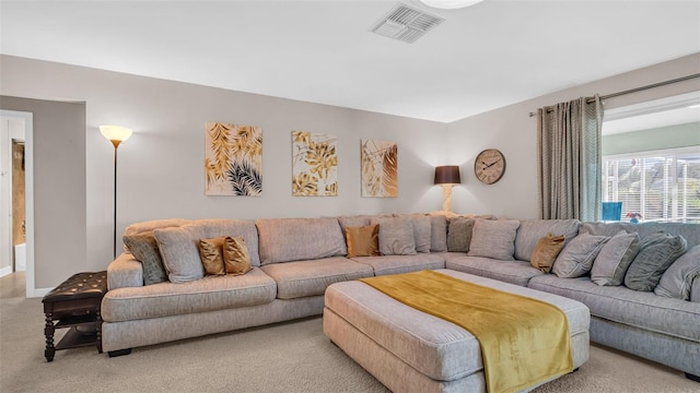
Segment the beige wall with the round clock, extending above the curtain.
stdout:
<svg viewBox="0 0 700 393">
<path fill-rule="evenodd" d="M 453 191 L 453 210 L 497 213 L 513 218 L 537 218 L 537 108 L 594 94 L 606 95 L 700 73 L 700 53 L 607 78 L 488 111 L 448 124 L 448 157 L 462 166 L 462 182 Z M 700 79 L 606 99 L 607 109 L 700 91 Z M 505 155 L 503 178 L 492 186 L 474 176 L 474 157 L 494 147 Z"/>
</svg>

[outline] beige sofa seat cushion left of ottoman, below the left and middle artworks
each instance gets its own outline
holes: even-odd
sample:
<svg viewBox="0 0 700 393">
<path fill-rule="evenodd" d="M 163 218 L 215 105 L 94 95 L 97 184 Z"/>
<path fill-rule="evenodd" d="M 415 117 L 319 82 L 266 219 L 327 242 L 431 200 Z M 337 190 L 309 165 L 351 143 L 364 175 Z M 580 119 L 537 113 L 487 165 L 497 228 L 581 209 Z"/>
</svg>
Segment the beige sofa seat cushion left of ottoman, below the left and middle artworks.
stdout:
<svg viewBox="0 0 700 393">
<path fill-rule="evenodd" d="M 279 299 L 323 295 L 334 283 L 372 277 L 372 267 L 342 257 L 272 263 L 260 267 L 277 282 Z"/>
</svg>

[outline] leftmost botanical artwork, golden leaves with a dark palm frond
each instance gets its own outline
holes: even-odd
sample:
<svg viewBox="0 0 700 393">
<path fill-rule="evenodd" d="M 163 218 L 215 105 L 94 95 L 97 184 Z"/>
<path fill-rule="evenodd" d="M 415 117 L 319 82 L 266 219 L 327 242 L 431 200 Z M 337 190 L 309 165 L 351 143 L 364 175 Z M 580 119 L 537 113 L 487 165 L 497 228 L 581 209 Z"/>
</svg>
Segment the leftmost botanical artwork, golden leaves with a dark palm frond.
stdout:
<svg viewBox="0 0 700 393">
<path fill-rule="evenodd" d="M 262 130 L 255 126 L 205 124 L 205 194 L 262 193 Z"/>
</svg>

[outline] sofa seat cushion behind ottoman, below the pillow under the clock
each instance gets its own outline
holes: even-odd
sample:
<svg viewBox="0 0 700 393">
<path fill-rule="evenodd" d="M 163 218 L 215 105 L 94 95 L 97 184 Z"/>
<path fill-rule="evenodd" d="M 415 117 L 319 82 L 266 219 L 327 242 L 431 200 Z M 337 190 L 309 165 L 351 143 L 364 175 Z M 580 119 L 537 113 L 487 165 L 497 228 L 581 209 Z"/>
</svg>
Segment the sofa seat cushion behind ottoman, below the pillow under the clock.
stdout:
<svg viewBox="0 0 700 393">
<path fill-rule="evenodd" d="M 527 286 L 532 277 L 546 274 L 533 267 L 529 262 L 500 261 L 483 257 L 450 258 L 446 266 L 447 269 L 459 272 L 471 273 L 520 286 Z"/>
</svg>

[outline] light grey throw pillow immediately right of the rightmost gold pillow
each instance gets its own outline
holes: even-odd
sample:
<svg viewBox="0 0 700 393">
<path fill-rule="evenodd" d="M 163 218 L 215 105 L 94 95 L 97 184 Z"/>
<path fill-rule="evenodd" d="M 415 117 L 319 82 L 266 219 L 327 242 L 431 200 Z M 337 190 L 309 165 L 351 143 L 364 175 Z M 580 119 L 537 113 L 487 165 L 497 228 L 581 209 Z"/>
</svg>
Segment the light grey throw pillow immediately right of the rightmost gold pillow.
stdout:
<svg viewBox="0 0 700 393">
<path fill-rule="evenodd" d="M 608 240 L 610 238 L 607 236 L 591 234 L 574 237 L 557 257 L 552 272 L 558 277 L 564 278 L 580 277 L 588 273 L 593 267 L 593 261 Z"/>
</svg>

